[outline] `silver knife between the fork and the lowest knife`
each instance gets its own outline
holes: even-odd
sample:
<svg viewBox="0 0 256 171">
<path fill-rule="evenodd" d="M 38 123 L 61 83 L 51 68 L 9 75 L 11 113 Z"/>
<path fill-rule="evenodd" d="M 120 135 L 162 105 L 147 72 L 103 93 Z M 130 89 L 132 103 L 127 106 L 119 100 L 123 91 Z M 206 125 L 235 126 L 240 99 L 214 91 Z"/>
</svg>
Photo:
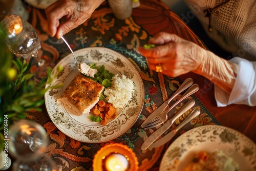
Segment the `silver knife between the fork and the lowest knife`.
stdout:
<svg viewBox="0 0 256 171">
<path fill-rule="evenodd" d="M 194 104 L 195 100 L 189 100 L 180 110 L 179 112 L 171 119 L 169 119 L 166 123 L 164 123 L 158 130 L 156 130 L 153 134 L 151 134 L 144 143 L 141 145 L 141 149 L 147 149 L 151 144 L 153 144 L 166 130 L 169 129 L 170 126 L 187 110 L 189 110 Z"/>
</svg>

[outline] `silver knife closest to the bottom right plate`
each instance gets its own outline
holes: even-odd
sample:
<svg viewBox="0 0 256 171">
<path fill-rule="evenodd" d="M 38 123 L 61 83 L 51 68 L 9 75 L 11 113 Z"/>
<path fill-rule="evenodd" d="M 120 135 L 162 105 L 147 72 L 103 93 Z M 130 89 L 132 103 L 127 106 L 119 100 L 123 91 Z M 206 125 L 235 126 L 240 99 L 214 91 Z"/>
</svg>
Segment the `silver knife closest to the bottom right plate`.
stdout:
<svg viewBox="0 0 256 171">
<path fill-rule="evenodd" d="M 172 139 L 176 133 L 185 125 L 187 124 L 189 121 L 191 121 L 192 119 L 194 119 L 195 117 L 197 117 L 200 114 L 200 110 L 199 109 L 195 109 L 194 111 L 192 111 L 187 117 L 186 119 L 181 122 L 176 129 L 174 129 L 173 131 L 169 132 L 168 134 L 166 134 L 164 137 L 160 138 L 158 141 L 154 142 L 152 144 L 153 148 L 156 148 L 158 146 L 161 146 L 163 144 L 165 144 L 166 142 L 168 142 L 170 139 Z"/>
</svg>

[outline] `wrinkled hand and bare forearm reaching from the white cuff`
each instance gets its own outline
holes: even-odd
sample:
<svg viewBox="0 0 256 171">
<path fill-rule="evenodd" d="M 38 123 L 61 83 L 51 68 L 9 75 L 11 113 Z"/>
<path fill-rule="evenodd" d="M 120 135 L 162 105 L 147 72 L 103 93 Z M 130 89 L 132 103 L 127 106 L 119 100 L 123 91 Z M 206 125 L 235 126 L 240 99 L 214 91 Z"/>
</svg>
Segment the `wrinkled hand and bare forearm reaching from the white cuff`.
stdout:
<svg viewBox="0 0 256 171">
<path fill-rule="evenodd" d="M 228 62 L 191 41 L 175 34 L 158 33 L 149 41 L 154 48 L 140 47 L 151 70 L 161 67 L 161 72 L 177 77 L 190 71 L 200 74 L 230 93 L 236 80 L 237 65 Z"/>
</svg>

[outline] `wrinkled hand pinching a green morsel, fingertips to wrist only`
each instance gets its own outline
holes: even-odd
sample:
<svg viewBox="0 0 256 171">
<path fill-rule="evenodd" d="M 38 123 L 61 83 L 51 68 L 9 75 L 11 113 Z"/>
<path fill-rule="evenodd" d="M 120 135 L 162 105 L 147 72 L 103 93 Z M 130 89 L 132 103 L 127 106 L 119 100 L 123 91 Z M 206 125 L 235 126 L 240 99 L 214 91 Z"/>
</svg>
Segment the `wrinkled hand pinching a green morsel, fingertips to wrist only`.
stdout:
<svg viewBox="0 0 256 171">
<path fill-rule="evenodd" d="M 201 47 L 175 34 L 158 33 L 149 43 L 157 46 L 151 49 L 140 47 L 139 52 L 146 57 L 151 70 L 161 64 L 162 73 L 170 77 L 197 70 L 202 56 L 206 55 Z"/>
</svg>

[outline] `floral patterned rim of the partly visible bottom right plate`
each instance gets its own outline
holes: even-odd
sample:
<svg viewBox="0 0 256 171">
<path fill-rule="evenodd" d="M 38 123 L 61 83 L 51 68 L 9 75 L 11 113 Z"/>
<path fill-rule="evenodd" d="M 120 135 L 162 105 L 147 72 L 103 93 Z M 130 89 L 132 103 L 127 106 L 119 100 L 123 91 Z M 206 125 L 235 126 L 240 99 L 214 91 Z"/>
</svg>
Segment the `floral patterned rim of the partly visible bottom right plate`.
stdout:
<svg viewBox="0 0 256 171">
<path fill-rule="evenodd" d="M 240 132 L 220 125 L 195 127 L 167 148 L 161 170 L 184 170 L 196 153 L 221 150 L 239 164 L 238 170 L 256 170 L 256 145 Z"/>
</svg>

